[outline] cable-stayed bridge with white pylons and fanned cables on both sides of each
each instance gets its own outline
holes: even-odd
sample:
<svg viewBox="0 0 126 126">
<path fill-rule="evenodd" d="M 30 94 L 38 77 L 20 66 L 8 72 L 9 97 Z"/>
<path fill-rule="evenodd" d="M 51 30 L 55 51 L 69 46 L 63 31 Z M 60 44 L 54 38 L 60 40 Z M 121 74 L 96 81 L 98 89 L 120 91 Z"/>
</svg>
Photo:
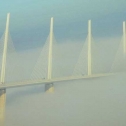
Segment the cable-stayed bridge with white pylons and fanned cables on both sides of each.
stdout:
<svg viewBox="0 0 126 126">
<path fill-rule="evenodd" d="M 58 69 L 60 64 L 59 60 L 62 59 L 62 55 L 58 53 L 57 41 L 53 32 L 53 18 L 50 22 L 50 33 L 47 40 L 41 50 L 34 68 L 28 73 L 28 77 L 22 74 L 22 71 L 18 69 L 21 62 L 21 56 L 16 53 L 16 50 L 9 33 L 9 21 L 10 14 L 7 14 L 5 33 L 0 39 L 0 125 L 4 126 L 4 113 L 6 104 L 6 89 L 21 86 L 30 86 L 36 84 L 45 84 L 45 91 L 53 92 L 54 83 L 61 81 L 70 81 L 76 79 L 88 79 L 95 77 L 104 77 L 113 75 L 116 72 L 124 70 L 125 66 L 125 54 L 126 54 L 126 23 L 123 22 L 123 38 L 120 42 L 119 49 L 115 55 L 114 61 L 108 71 L 104 71 L 103 67 L 97 60 L 99 53 L 97 46 L 95 45 L 92 37 L 91 20 L 88 21 L 88 35 L 81 53 L 78 57 L 74 69 L 70 74 L 62 75 L 62 71 L 66 71 L 63 67 Z M 65 62 L 65 61 L 62 61 Z M 29 64 L 27 64 L 29 65 Z M 26 66 L 27 66 L 26 65 Z M 62 64 L 60 65 L 62 67 Z M 101 68 L 100 68 L 101 67 Z M 12 79 L 12 76 L 18 78 Z M 22 76 L 22 79 L 20 79 Z"/>
</svg>

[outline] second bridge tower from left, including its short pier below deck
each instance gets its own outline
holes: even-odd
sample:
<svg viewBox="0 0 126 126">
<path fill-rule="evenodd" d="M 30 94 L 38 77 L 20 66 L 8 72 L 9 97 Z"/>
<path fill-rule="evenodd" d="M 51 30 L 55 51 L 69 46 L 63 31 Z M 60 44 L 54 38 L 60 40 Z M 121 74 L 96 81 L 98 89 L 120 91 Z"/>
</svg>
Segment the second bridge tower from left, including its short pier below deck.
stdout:
<svg viewBox="0 0 126 126">
<path fill-rule="evenodd" d="M 49 52 L 48 52 L 48 75 L 47 78 L 52 79 L 52 53 L 53 53 L 53 17 L 50 21 L 50 34 L 49 34 Z M 45 90 L 47 92 L 54 92 L 53 84 L 46 84 Z"/>
</svg>

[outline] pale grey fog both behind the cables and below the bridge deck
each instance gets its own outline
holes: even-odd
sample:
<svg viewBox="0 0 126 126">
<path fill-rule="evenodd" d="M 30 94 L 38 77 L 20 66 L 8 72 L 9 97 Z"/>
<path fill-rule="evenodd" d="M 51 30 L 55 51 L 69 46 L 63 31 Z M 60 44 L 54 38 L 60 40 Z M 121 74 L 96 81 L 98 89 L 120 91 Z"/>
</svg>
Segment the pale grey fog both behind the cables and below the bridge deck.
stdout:
<svg viewBox="0 0 126 126">
<path fill-rule="evenodd" d="M 57 82 L 54 83 L 54 93 L 45 93 L 44 85 L 7 89 L 6 126 L 124 126 L 126 73 L 121 72 L 125 66 L 119 65 L 124 60 L 117 60 L 122 54 L 119 46 L 121 37 L 98 38 L 95 41 L 99 56 L 92 57 L 97 61 L 93 62 L 93 69 L 98 68 L 93 74 L 113 71 L 118 73 L 107 77 Z M 53 73 L 59 72 L 60 75 L 54 74 L 53 77 L 73 74 L 84 43 L 86 41 L 67 40 L 58 44 L 58 49 L 55 49 L 57 53 L 54 53 L 54 59 L 58 62 L 54 64 Z M 6 74 L 6 81 L 31 79 L 37 59 L 42 58 L 39 57 L 41 49 L 18 52 L 18 59 L 15 60 L 18 69 L 12 69 L 8 65 L 6 71 L 12 74 L 11 77 Z M 85 63 L 86 61 L 87 59 Z M 13 62 L 9 64 L 12 65 Z M 37 77 L 42 76 L 37 74 Z"/>
</svg>

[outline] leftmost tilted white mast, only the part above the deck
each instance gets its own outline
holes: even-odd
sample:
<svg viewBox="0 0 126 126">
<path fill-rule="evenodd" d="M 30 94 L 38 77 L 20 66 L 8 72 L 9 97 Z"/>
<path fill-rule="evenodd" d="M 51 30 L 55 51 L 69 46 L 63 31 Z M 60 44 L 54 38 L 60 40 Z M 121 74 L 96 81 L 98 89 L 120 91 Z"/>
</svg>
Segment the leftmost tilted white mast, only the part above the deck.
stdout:
<svg viewBox="0 0 126 126">
<path fill-rule="evenodd" d="M 9 20 L 10 20 L 10 13 L 7 14 L 7 22 L 6 22 L 6 30 L 5 30 L 5 38 L 4 38 L 4 49 L 3 49 L 3 57 L 2 57 L 1 83 L 4 83 L 5 81 Z"/>
</svg>

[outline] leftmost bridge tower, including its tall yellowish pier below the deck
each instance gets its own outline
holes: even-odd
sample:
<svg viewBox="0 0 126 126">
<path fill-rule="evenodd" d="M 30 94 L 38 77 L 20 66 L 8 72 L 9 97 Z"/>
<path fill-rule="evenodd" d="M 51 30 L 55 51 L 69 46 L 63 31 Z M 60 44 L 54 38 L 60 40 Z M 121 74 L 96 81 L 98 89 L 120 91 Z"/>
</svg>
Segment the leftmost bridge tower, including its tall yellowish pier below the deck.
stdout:
<svg viewBox="0 0 126 126">
<path fill-rule="evenodd" d="M 9 20 L 10 20 L 10 13 L 7 14 L 6 29 L 5 29 L 5 36 L 4 36 L 4 48 L 3 48 L 1 80 L 0 80 L 1 84 L 5 83 Z M 6 105 L 6 90 L 3 89 L 0 90 L 0 126 L 5 125 L 5 105 Z"/>
</svg>

